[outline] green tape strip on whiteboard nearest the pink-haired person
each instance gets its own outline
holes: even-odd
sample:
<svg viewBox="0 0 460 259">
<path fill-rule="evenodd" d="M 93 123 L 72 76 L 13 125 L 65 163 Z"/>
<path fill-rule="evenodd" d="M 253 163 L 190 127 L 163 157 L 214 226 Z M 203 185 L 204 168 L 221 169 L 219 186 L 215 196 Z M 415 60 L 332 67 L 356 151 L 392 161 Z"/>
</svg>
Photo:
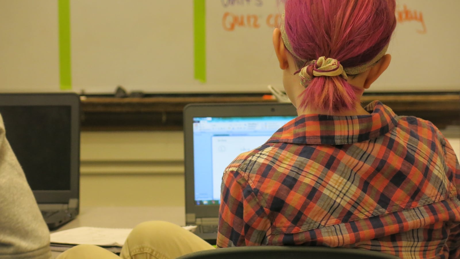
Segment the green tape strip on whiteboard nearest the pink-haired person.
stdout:
<svg viewBox="0 0 460 259">
<path fill-rule="evenodd" d="M 194 0 L 195 79 L 206 82 L 206 1 Z"/>
</svg>

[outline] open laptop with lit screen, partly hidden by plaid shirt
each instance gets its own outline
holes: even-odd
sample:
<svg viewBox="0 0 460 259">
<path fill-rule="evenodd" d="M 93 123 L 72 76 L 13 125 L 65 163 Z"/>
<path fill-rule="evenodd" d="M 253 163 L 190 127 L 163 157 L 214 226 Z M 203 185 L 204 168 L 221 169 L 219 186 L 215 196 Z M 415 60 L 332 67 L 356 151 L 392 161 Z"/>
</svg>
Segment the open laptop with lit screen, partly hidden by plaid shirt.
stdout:
<svg viewBox="0 0 460 259">
<path fill-rule="evenodd" d="M 191 104 L 184 108 L 185 221 L 215 244 L 224 169 L 297 116 L 287 103 Z"/>
</svg>

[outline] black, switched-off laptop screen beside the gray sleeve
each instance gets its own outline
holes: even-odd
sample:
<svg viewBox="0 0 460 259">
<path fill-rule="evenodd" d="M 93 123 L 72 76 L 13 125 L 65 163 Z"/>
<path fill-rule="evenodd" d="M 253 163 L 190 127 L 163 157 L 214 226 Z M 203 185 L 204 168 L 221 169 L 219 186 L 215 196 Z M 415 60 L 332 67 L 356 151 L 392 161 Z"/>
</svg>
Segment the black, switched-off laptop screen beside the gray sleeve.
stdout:
<svg viewBox="0 0 460 259">
<path fill-rule="evenodd" d="M 6 138 L 32 190 L 69 190 L 71 107 L 0 106 Z"/>
</svg>

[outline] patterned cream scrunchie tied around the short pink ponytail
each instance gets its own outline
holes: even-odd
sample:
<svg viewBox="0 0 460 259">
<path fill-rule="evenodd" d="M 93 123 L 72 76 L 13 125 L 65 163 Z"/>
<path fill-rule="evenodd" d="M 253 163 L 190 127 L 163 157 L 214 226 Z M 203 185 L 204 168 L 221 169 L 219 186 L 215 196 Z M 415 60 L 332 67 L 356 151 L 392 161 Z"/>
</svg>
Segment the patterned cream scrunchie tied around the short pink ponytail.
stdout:
<svg viewBox="0 0 460 259">
<path fill-rule="evenodd" d="M 336 77 L 340 75 L 345 80 L 348 79 L 340 62 L 337 59 L 326 59 L 326 57 L 312 60 L 308 62 L 308 65 L 299 70 L 300 82 L 304 86 L 307 86 L 313 77 Z"/>
</svg>

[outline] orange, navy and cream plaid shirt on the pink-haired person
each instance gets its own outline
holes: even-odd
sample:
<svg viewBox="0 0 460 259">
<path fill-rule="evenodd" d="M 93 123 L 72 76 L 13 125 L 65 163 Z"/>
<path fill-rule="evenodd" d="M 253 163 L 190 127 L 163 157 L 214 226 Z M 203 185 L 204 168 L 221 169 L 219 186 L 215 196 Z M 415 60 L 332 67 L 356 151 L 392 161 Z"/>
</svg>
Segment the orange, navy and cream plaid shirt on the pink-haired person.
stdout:
<svg viewBox="0 0 460 259">
<path fill-rule="evenodd" d="M 429 121 L 302 115 L 224 171 L 218 247 L 357 247 L 460 258 L 460 165 Z"/>
</svg>

